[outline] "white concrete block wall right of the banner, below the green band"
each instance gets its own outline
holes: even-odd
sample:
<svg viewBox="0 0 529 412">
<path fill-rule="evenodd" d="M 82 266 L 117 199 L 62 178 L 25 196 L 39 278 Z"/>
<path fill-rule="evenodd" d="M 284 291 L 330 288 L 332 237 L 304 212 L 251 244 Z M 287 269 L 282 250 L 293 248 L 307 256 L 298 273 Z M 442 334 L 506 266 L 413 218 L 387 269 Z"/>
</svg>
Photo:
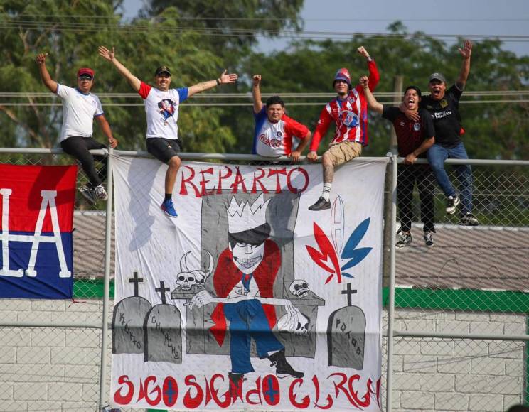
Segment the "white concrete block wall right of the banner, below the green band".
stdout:
<svg viewBox="0 0 529 412">
<path fill-rule="evenodd" d="M 523 315 L 397 309 L 395 329 L 525 335 Z M 387 324 L 387 320 L 385 320 Z M 397 337 L 392 408 L 404 411 L 506 411 L 523 401 L 525 344 Z"/>
</svg>

